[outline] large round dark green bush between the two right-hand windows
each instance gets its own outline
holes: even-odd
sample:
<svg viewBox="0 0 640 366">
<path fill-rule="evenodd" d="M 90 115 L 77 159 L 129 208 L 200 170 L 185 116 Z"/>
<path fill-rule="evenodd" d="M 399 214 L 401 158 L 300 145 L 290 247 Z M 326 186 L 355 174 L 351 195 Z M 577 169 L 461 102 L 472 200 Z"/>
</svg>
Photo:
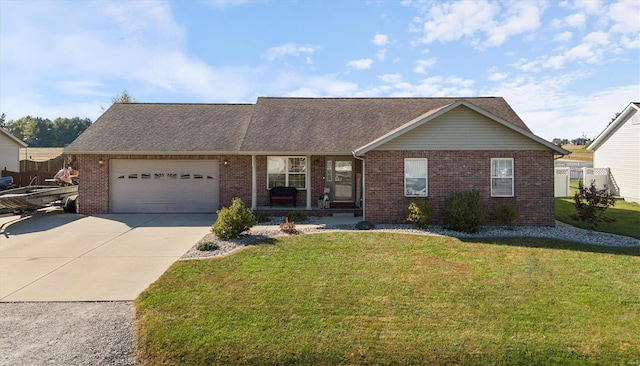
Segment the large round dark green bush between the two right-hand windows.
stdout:
<svg viewBox="0 0 640 366">
<path fill-rule="evenodd" d="M 486 217 L 480 191 L 455 193 L 445 198 L 442 216 L 447 229 L 464 233 L 480 231 Z"/>
</svg>

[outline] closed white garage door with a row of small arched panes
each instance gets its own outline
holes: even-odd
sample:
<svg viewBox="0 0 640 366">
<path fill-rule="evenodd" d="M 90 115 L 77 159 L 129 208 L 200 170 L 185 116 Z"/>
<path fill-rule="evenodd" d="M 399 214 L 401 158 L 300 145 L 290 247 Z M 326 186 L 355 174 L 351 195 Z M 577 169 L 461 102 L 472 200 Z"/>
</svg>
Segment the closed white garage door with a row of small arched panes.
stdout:
<svg viewBox="0 0 640 366">
<path fill-rule="evenodd" d="M 215 212 L 217 160 L 111 160 L 112 212 Z"/>
</svg>

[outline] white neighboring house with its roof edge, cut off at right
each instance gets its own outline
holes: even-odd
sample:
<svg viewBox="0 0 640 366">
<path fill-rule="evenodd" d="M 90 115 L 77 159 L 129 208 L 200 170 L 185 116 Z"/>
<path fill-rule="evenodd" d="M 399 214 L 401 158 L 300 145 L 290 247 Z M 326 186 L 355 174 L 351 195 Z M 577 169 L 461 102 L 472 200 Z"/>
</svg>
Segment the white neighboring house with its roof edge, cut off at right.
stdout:
<svg viewBox="0 0 640 366">
<path fill-rule="evenodd" d="M 640 203 L 640 103 L 629 104 L 587 149 L 594 168 L 609 168 L 613 193 Z"/>
</svg>

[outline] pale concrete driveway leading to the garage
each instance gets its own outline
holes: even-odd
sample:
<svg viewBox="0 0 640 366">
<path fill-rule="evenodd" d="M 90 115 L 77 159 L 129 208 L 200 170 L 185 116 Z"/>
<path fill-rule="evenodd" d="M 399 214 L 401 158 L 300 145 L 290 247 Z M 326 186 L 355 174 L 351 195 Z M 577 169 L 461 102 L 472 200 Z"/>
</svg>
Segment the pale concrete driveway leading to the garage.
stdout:
<svg viewBox="0 0 640 366">
<path fill-rule="evenodd" d="M 0 225 L 18 219 L 0 215 Z M 215 221 L 214 214 L 38 212 L 0 235 L 0 302 L 131 301 Z"/>
</svg>

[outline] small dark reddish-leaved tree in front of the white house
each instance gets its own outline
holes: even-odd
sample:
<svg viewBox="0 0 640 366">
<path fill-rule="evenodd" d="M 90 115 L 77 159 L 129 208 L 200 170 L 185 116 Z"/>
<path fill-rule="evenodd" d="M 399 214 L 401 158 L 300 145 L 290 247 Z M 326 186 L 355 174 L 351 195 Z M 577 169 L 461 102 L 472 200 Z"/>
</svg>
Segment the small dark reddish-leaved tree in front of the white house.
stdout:
<svg viewBox="0 0 640 366">
<path fill-rule="evenodd" d="M 580 183 L 580 190 L 573 196 L 573 202 L 577 212 L 571 215 L 571 218 L 584 221 L 589 230 L 594 230 L 602 221 L 616 221 L 615 218 L 604 215 L 604 211 L 616 203 L 606 186 L 604 189 L 598 189 L 595 182 L 591 182 L 590 187 L 585 187 Z"/>
</svg>

